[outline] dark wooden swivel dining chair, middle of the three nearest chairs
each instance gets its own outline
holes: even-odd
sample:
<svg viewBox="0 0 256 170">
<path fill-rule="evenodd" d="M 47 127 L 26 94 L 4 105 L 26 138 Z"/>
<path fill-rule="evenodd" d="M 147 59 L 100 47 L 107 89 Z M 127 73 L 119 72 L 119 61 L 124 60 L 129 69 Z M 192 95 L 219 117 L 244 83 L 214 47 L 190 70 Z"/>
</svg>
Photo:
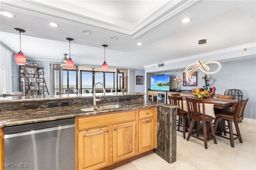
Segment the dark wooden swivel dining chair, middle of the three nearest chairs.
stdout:
<svg viewBox="0 0 256 170">
<path fill-rule="evenodd" d="M 217 144 L 213 125 L 212 125 L 212 120 L 215 119 L 215 117 L 206 115 L 204 99 L 186 98 L 186 101 L 187 101 L 187 108 L 188 108 L 188 117 L 192 119 L 189 131 L 188 131 L 187 141 L 190 139 L 190 137 L 194 137 L 196 139 L 204 141 L 205 149 L 207 149 L 207 142 L 210 140 L 214 140 L 214 143 Z M 197 128 L 196 128 L 196 131 L 193 131 L 195 121 L 197 122 Z M 199 137 L 201 121 L 203 123 L 203 135 L 204 135 L 203 139 Z M 207 132 L 206 124 L 210 126 L 209 132 Z M 196 135 L 194 135 L 194 133 L 196 133 Z"/>
</svg>

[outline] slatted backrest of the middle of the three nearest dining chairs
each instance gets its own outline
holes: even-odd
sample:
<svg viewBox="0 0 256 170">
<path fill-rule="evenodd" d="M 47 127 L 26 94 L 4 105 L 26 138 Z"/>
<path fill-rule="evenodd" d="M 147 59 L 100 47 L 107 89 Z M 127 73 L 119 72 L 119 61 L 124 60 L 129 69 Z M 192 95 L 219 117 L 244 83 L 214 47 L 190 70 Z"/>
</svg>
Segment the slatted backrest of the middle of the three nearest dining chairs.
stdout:
<svg viewBox="0 0 256 170">
<path fill-rule="evenodd" d="M 205 121 L 204 99 L 186 98 L 189 118 Z M 200 108 L 200 104 L 202 108 Z M 201 110 L 202 109 L 202 110 Z M 202 113 L 202 116 L 201 116 Z"/>
</svg>

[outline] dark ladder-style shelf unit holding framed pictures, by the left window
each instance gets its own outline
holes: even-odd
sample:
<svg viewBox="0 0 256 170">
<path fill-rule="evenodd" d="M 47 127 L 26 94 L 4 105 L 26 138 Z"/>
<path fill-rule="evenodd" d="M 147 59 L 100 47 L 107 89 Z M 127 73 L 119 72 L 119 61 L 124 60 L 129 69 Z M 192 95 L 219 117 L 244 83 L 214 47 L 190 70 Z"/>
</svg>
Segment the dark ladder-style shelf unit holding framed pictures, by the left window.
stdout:
<svg viewBox="0 0 256 170">
<path fill-rule="evenodd" d="M 44 68 L 29 65 L 20 65 L 20 92 L 24 94 L 36 93 L 39 95 L 49 95 L 46 82 L 44 80 Z"/>
</svg>

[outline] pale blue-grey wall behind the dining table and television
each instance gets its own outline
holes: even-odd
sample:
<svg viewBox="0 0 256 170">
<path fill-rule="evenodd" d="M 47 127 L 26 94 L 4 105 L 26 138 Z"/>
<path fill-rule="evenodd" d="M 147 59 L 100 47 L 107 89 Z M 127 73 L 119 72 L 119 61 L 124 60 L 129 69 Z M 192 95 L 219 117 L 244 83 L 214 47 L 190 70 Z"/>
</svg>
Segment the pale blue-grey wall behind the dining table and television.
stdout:
<svg viewBox="0 0 256 170">
<path fill-rule="evenodd" d="M 169 68 L 174 69 L 174 68 Z M 203 88 L 204 86 L 204 72 L 196 70 L 198 72 L 198 86 L 183 86 L 180 83 L 180 89 L 191 90 L 191 88 Z M 148 73 L 147 73 L 148 74 Z M 170 74 L 170 88 L 176 88 L 176 82 L 174 78 L 180 76 L 183 78 L 181 70 L 157 72 L 157 74 Z M 216 94 L 224 94 L 228 89 L 238 89 L 243 93 L 243 99 L 249 98 L 248 103 L 244 111 L 244 117 L 256 119 L 256 59 L 248 59 L 241 61 L 233 61 L 227 63 L 221 63 L 220 71 L 214 74 L 207 74 L 210 82 L 210 86 L 216 87 Z M 147 77 L 150 79 L 150 76 Z M 150 80 L 147 80 L 148 82 Z"/>
</svg>

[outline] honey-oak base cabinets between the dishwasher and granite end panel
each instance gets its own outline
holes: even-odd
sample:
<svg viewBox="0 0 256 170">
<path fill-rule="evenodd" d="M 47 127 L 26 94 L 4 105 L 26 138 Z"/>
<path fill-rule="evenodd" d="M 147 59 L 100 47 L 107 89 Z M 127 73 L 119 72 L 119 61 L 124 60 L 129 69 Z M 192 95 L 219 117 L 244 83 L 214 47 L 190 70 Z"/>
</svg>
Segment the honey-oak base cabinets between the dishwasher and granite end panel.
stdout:
<svg viewBox="0 0 256 170">
<path fill-rule="evenodd" d="M 157 107 L 76 117 L 76 170 L 100 169 L 156 148 Z"/>
</svg>

